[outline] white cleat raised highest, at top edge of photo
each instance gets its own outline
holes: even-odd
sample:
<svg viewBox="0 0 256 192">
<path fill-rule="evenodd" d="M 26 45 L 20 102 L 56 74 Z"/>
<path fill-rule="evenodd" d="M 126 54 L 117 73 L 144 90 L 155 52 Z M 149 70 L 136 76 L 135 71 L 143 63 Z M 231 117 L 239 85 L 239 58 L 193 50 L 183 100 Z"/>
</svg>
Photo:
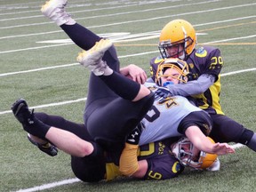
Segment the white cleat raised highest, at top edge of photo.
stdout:
<svg viewBox="0 0 256 192">
<path fill-rule="evenodd" d="M 41 12 L 58 26 L 63 24 L 74 25 L 76 21 L 65 11 L 67 4 L 68 0 L 50 0 L 45 2 L 41 8 Z"/>
</svg>

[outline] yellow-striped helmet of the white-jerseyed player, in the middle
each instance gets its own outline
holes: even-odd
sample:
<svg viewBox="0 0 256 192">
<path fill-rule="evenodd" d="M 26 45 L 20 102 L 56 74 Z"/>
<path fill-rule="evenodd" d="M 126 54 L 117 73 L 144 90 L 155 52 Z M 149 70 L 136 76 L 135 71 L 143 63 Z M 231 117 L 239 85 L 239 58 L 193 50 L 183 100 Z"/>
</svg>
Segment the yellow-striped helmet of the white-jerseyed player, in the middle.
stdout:
<svg viewBox="0 0 256 192">
<path fill-rule="evenodd" d="M 179 73 L 179 75 L 172 76 L 171 74 L 164 74 L 164 71 L 167 68 L 175 69 Z M 172 76 L 172 78 L 178 79 L 179 83 L 187 83 L 188 74 L 189 74 L 189 69 L 186 61 L 179 60 L 178 58 L 164 59 L 157 67 L 155 81 L 156 81 L 156 84 L 158 84 L 159 86 L 162 86 L 161 78 L 164 76 Z"/>
</svg>

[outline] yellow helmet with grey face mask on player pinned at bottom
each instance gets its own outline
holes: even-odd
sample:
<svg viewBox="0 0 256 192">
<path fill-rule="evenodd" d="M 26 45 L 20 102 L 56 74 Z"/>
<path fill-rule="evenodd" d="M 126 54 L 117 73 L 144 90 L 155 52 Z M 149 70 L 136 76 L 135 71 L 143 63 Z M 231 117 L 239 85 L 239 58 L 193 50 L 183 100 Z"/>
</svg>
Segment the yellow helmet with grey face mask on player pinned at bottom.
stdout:
<svg viewBox="0 0 256 192">
<path fill-rule="evenodd" d="M 212 138 L 207 138 L 211 140 L 212 143 L 215 143 Z M 175 143 L 172 147 L 172 153 L 177 159 L 179 159 L 181 164 L 192 167 L 196 170 L 206 170 L 210 168 L 218 158 L 216 154 L 209 154 L 199 150 L 198 156 L 195 156 L 194 145 L 188 140 L 188 138 L 181 138 L 177 143 Z"/>
</svg>

